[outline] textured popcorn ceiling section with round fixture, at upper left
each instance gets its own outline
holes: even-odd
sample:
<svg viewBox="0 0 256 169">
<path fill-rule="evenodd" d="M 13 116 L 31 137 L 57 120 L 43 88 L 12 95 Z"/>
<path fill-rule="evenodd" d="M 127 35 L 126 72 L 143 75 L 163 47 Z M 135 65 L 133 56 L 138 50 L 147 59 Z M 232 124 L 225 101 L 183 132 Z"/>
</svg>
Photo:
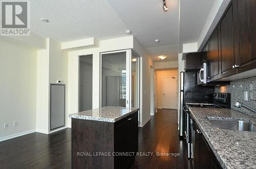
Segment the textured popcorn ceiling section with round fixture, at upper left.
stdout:
<svg viewBox="0 0 256 169">
<path fill-rule="evenodd" d="M 127 36 L 126 26 L 105 0 L 31 0 L 31 32 L 59 42 Z M 48 23 L 40 18 L 49 19 Z"/>
</svg>

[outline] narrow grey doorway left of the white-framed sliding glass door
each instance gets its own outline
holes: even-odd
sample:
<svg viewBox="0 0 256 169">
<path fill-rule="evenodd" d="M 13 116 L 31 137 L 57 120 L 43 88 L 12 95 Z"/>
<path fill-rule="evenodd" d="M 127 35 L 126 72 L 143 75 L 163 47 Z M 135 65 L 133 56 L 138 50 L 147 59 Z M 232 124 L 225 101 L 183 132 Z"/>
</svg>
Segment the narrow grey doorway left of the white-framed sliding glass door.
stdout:
<svg viewBox="0 0 256 169">
<path fill-rule="evenodd" d="M 79 111 L 92 109 L 93 55 L 79 56 Z"/>
</svg>

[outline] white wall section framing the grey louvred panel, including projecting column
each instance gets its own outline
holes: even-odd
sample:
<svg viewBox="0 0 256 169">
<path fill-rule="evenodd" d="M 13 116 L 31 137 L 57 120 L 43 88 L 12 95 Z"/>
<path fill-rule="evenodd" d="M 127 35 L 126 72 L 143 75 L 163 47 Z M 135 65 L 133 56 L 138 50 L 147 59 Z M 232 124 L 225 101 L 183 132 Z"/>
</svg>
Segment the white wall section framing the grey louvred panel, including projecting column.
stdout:
<svg viewBox="0 0 256 169">
<path fill-rule="evenodd" d="M 65 114 L 68 116 L 68 52 L 61 43 L 47 39 L 47 49 L 37 51 L 36 131 L 50 131 L 50 83 L 61 80 L 66 84 Z M 66 124 L 68 119 L 66 118 Z"/>
</svg>

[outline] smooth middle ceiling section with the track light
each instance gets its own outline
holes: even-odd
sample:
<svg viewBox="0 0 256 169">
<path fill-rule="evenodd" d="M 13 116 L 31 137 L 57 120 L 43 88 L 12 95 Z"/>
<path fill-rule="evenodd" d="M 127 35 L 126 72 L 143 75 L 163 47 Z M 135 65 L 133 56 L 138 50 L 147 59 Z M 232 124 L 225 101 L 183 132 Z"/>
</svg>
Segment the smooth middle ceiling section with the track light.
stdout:
<svg viewBox="0 0 256 169">
<path fill-rule="evenodd" d="M 167 12 L 163 12 L 161 0 L 106 1 L 154 61 L 158 55 L 168 55 L 165 61 L 178 60 L 178 0 L 166 1 Z"/>
</svg>

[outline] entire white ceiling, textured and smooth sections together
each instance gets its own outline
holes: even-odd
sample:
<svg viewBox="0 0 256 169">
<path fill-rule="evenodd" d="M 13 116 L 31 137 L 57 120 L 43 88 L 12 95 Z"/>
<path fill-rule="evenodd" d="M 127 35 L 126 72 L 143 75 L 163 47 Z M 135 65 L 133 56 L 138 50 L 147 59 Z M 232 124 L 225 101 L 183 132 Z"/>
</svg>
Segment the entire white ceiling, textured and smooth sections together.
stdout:
<svg viewBox="0 0 256 169">
<path fill-rule="evenodd" d="M 180 1 L 179 33 L 179 0 L 166 0 L 167 12 L 163 12 L 162 0 L 31 0 L 31 32 L 67 42 L 123 37 L 130 29 L 154 61 L 158 55 L 168 55 L 164 61 L 177 61 L 178 46 L 182 51 L 183 43 L 198 41 L 214 2 Z"/>
</svg>

